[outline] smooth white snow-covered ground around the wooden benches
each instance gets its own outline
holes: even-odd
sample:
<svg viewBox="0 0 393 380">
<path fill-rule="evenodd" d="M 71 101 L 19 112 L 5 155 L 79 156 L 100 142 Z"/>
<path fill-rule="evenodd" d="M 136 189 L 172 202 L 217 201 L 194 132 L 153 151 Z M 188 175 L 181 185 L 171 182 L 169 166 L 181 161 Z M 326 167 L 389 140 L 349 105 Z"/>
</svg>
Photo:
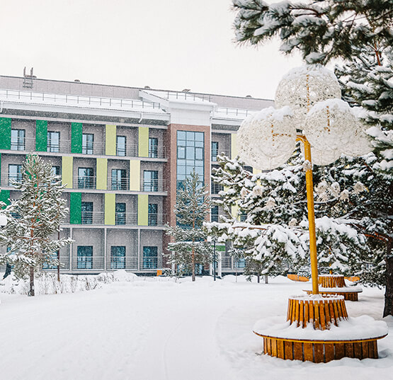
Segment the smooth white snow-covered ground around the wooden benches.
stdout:
<svg viewBox="0 0 393 380">
<path fill-rule="evenodd" d="M 328 364 L 261 355 L 252 333 L 267 316 L 285 321 L 287 297 L 304 283 L 270 284 L 227 276 L 129 278 L 100 289 L 28 297 L 0 294 L 1 380 L 243 380 L 389 379 L 391 333 L 378 342 L 380 359 L 344 358 Z M 350 316 L 380 319 L 383 292 L 365 288 L 346 301 Z"/>
</svg>

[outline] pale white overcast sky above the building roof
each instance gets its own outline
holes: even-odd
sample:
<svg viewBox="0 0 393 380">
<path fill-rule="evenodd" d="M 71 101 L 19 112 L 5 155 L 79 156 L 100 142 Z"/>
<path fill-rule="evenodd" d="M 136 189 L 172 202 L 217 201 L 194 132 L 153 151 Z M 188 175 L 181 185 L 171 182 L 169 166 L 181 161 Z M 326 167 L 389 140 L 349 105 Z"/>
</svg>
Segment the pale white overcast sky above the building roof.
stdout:
<svg viewBox="0 0 393 380">
<path fill-rule="evenodd" d="M 300 58 L 235 44 L 231 4 L 0 0 L 0 74 L 273 98 Z"/>
</svg>

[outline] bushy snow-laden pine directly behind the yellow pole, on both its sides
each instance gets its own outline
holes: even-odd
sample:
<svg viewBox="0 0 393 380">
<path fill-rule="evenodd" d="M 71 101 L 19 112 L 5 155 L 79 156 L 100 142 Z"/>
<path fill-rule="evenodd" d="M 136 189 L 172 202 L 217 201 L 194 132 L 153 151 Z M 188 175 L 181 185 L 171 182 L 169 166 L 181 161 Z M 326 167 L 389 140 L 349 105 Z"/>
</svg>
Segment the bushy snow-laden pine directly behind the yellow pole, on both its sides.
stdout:
<svg viewBox="0 0 393 380">
<path fill-rule="evenodd" d="M 236 205 L 239 214 L 247 218 L 239 222 L 224 217 L 223 222 L 207 227 L 220 240 L 232 241 L 234 248 L 244 248 L 250 264 L 256 260 L 263 267 L 261 274 L 285 274 L 308 264 L 307 200 L 301 162 L 297 152 L 283 168 L 253 175 L 238 158 L 218 157 L 220 168 L 213 173 L 213 180 L 225 188 L 217 203 L 228 213 L 229 206 Z M 331 193 L 316 200 L 315 213 L 320 270 L 326 267 L 349 275 L 359 269 L 358 262 L 368 258 L 369 250 L 363 234 L 336 220 L 343 212 L 331 212 L 338 208 L 332 205 L 345 200 L 346 192 L 337 189 L 332 181 Z M 317 195 L 321 196 L 321 192 Z"/>
</svg>

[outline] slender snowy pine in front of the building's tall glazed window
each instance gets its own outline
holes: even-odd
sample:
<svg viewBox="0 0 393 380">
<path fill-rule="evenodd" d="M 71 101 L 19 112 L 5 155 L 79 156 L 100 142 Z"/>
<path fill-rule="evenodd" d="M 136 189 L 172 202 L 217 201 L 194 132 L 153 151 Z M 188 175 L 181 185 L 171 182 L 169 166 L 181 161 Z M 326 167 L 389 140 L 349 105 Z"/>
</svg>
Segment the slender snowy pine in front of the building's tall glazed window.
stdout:
<svg viewBox="0 0 393 380">
<path fill-rule="evenodd" d="M 212 246 L 207 242 L 203 222 L 210 212 L 210 200 L 207 185 L 200 182 L 195 171 L 183 181 L 179 189 L 173 212 L 176 226 L 167 226 L 166 234 L 173 236 L 169 243 L 168 263 L 175 265 L 181 273 L 192 272 L 195 281 L 195 265 L 207 265 L 212 262 Z"/>
</svg>

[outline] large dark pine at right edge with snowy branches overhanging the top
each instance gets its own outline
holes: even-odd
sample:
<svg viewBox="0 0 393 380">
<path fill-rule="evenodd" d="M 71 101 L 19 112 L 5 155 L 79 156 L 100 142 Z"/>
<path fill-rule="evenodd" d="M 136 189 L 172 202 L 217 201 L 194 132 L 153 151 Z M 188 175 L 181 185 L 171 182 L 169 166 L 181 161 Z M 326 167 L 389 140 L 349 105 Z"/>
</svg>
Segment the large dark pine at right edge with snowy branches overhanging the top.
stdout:
<svg viewBox="0 0 393 380">
<path fill-rule="evenodd" d="M 373 170 L 387 173 L 381 179 L 387 194 L 385 202 L 389 202 L 393 192 L 392 175 L 389 175 L 393 161 L 392 1 L 316 0 L 266 4 L 262 0 L 233 0 L 233 4 L 237 11 L 234 27 L 239 42 L 258 45 L 277 36 L 281 40 L 281 51 L 300 50 L 307 63 L 326 64 L 334 58 L 343 59 L 345 66 L 336 71 L 341 76 L 343 95 L 368 110 L 365 120 L 375 125 L 368 129 L 379 161 Z M 380 214 L 381 219 L 385 216 L 385 212 Z M 392 214 L 388 220 L 387 234 L 377 231 L 368 234 L 385 244 L 384 316 L 393 315 Z"/>
</svg>

